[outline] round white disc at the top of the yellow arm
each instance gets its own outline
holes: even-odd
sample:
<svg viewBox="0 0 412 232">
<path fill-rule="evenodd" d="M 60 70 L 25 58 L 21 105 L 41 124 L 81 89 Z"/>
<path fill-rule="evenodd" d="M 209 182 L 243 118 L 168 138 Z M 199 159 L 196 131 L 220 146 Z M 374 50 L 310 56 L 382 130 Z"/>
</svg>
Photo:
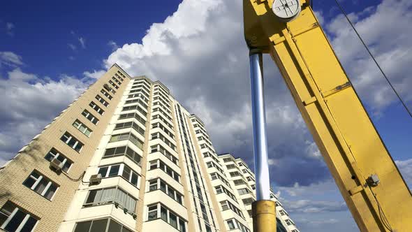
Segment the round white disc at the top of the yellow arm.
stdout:
<svg viewBox="0 0 412 232">
<path fill-rule="evenodd" d="M 274 0 L 272 5 L 274 15 L 279 17 L 279 20 L 289 22 L 294 20 L 300 13 L 299 0 Z"/>
</svg>

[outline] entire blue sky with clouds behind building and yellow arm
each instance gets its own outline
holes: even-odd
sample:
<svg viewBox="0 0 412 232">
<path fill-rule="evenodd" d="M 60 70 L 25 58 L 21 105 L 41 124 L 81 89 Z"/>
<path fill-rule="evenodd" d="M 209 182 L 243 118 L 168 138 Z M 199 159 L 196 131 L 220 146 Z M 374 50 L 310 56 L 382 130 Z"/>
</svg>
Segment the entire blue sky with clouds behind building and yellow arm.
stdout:
<svg viewBox="0 0 412 232">
<path fill-rule="evenodd" d="M 412 3 L 342 4 L 412 109 Z M 333 1 L 314 10 L 405 179 L 412 120 Z M 395 35 L 395 36 L 394 36 Z M 117 62 L 161 80 L 206 123 L 216 152 L 251 164 L 242 4 L 235 0 L 13 1 L 0 8 L 0 159 L 22 145 Z M 265 57 L 271 180 L 302 231 L 356 231 L 277 68 Z"/>
</svg>

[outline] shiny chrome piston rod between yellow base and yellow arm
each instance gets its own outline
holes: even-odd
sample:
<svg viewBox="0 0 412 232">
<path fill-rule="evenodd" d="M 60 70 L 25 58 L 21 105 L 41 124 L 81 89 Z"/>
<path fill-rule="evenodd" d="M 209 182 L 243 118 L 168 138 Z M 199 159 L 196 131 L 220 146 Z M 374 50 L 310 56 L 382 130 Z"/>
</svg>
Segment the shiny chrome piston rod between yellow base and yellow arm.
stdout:
<svg viewBox="0 0 412 232">
<path fill-rule="evenodd" d="M 251 72 L 251 100 L 253 117 L 253 159 L 256 173 L 256 201 L 270 200 L 269 164 L 265 96 L 263 94 L 263 58 L 260 50 L 249 54 Z"/>
</svg>

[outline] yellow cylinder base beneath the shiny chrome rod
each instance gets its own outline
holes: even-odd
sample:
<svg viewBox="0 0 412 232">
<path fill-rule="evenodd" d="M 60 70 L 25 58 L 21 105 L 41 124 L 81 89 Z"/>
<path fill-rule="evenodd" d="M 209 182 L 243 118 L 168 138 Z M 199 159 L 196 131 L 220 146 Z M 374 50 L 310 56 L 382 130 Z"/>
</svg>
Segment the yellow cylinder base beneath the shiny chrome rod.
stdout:
<svg viewBox="0 0 412 232">
<path fill-rule="evenodd" d="M 276 232 L 275 208 L 274 201 L 252 203 L 253 232 Z"/>
</svg>

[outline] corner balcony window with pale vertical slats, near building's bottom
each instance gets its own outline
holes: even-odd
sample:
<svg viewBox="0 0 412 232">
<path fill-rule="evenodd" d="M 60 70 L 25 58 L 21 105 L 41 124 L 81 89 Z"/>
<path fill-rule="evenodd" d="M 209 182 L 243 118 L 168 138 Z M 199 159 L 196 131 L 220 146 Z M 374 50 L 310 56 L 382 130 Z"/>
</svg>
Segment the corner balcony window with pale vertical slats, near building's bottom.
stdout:
<svg viewBox="0 0 412 232">
<path fill-rule="evenodd" d="M 121 208 L 126 209 L 128 212 L 134 213 L 137 200 L 119 187 L 111 187 L 90 190 L 83 206 L 89 207 L 115 203 L 119 204 Z"/>
</svg>

